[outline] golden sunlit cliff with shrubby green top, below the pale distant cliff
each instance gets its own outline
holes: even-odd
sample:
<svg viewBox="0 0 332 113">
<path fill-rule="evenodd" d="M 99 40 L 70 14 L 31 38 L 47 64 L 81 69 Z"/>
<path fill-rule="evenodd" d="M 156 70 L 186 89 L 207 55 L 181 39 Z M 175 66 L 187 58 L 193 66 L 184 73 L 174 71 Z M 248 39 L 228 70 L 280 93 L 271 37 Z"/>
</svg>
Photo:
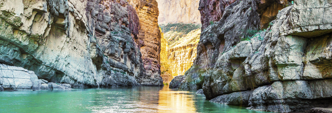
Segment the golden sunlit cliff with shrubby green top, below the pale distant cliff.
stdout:
<svg viewBox="0 0 332 113">
<path fill-rule="evenodd" d="M 196 58 L 196 48 L 199 41 L 201 29 L 200 25 L 193 24 L 168 24 L 161 28 L 166 32 L 167 39 L 167 62 L 168 73 L 172 76 L 184 75 L 193 65 Z M 169 81 L 170 82 L 170 81 Z"/>
</svg>

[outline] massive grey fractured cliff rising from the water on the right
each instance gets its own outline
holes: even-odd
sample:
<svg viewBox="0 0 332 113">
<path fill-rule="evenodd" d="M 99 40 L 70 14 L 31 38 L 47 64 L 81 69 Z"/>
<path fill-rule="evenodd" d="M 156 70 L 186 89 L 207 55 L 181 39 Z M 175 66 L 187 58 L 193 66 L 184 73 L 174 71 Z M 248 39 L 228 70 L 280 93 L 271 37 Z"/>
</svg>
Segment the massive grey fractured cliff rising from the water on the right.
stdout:
<svg viewBox="0 0 332 113">
<path fill-rule="evenodd" d="M 293 3 L 243 0 L 226 6 L 220 21 L 203 30 L 179 88 L 202 88 L 213 102 L 253 110 L 331 106 L 332 17 L 324 15 L 331 14 L 332 3 Z M 291 6 L 280 7 L 285 4 Z"/>
</svg>

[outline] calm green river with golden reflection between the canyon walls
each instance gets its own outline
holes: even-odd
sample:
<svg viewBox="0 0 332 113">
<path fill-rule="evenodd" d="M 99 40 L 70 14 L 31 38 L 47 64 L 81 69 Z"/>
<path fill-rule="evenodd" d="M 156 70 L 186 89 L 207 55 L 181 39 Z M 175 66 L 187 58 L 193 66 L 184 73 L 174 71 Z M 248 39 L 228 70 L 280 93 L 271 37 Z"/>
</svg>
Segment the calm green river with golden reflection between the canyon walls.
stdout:
<svg viewBox="0 0 332 113">
<path fill-rule="evenodd" d="M 0 112 L 267 113 L 217 104 L 193 91 L 168 87 L 0 91 Z"/>
</svg>

